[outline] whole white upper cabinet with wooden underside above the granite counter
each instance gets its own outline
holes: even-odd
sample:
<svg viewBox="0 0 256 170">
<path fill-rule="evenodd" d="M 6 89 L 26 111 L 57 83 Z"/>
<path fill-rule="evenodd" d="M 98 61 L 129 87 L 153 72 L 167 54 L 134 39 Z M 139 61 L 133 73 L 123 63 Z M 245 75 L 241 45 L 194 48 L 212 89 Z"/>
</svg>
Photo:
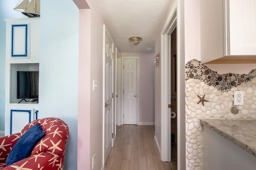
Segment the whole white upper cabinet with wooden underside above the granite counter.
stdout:
<svg viewBox="0 0 256 170">
<path fill-rule="evenodd" d="M 256 0 L 200 0 L 202 63 L 256 63 Z"/>
</svg>

